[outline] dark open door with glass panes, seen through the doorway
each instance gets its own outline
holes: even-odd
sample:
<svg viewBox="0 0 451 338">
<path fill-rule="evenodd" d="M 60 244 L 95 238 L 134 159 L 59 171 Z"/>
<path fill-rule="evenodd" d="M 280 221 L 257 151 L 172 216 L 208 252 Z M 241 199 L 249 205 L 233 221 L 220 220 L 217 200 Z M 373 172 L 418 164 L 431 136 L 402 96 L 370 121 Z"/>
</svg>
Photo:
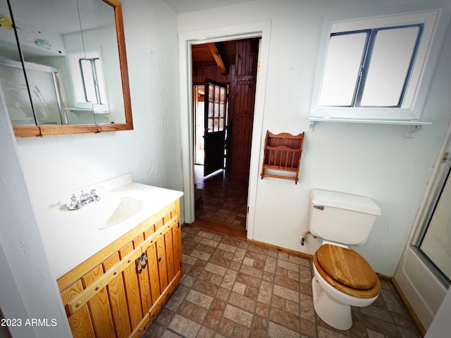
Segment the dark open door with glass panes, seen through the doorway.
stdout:
<svg viewBox="0 0 451 338">
<path fill-rule="evenodd" d="M 206 79 L 204 176 L 224 168 L 227 121 L 227 84 Z"/>
</svg>

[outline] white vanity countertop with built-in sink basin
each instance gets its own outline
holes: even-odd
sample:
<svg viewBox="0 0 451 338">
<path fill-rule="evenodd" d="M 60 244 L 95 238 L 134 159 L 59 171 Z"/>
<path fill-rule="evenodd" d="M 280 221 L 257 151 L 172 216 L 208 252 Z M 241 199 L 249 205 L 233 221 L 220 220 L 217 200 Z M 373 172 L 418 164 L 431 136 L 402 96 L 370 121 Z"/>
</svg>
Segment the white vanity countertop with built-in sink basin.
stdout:
<svg viewBox="0 0 451 338">
<path fill-rule="evenodd" d="M 130 174 L 101 183 L 97 192 L 100 201 L 78 210 L 54 204 L 42 213 L 39 230 L 56 279 L 183 196 L 132 182 Z"/>
</svg>

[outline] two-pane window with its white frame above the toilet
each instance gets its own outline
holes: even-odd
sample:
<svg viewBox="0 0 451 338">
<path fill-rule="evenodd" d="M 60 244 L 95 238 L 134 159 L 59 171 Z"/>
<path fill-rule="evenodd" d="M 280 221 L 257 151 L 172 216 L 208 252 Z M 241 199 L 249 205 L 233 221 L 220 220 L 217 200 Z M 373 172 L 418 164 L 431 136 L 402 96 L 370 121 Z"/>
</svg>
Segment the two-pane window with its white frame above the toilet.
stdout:
<svg viewBox="0 0 451 338">
<path fill-rule="evenodd" d="M 434 49 L 434 61 L 431 51 L 443 41 L 443 32 L 441 40 L 435 34 L 439 14 L 427 11 L 327 25 L 310 116 L 419 119 L 438 55 Z"/>
</svg>

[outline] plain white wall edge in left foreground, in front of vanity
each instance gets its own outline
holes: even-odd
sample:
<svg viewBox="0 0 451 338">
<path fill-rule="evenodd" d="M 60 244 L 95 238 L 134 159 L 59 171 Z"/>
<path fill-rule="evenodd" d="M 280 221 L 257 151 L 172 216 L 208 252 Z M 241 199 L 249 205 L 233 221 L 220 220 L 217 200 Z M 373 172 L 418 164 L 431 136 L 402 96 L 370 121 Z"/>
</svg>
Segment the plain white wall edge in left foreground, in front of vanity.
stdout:
<svg viewBox="0 0 451 338">
<path fill-rule="evenodd" d="M 4 318 L 17 320 L 9 327 L 13 337 L 69 337 L 66 313 L 39 237 L 1 90 L 0 144 L 1 312 Z M 47 319 L 50 326 L 26 325 L 32 318 Z M 3 332 L 0 330 L 1 337 Z"/>
</svg>

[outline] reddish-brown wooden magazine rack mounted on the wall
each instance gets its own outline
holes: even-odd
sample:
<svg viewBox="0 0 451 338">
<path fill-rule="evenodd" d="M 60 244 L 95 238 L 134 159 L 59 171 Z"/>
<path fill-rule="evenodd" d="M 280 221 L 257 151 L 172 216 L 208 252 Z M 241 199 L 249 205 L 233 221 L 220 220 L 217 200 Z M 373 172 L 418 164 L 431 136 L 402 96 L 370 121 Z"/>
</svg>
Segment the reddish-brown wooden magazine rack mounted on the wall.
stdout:
<svg viewBox="0 0 451 338">
<path fill-rule="evenodd" d="M 292 135 L 288 132 L 273 134 L 266 131 L 261 179 L 276 177 L 293 180 L 297 184 L 303 142 L 303 132 Z"/>
</svg>

